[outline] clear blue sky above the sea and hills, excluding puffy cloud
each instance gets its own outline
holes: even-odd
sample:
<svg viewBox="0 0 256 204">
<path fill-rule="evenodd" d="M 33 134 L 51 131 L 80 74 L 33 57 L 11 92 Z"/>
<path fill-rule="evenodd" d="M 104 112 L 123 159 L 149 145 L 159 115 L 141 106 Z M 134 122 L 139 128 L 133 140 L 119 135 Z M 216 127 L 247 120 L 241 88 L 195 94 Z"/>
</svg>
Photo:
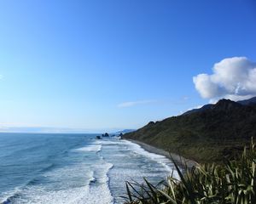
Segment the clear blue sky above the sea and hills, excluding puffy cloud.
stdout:
<svg viewBox="0 0 256 204">
<path fill-rule="evenodd" d="M 253 0 L 3 0 L 0 127 L 137 128 L 206 104 L 193 77 L 255 62 L 255 21 Z"/>
</svg>

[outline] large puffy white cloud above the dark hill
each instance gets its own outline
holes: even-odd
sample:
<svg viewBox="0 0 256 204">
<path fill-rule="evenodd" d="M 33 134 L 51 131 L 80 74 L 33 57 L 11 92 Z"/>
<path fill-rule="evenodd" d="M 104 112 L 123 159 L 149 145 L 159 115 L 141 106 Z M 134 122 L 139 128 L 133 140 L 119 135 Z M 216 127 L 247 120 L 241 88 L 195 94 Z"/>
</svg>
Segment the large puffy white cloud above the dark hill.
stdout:
<svg viewBox="0 0 256 204">
<path fill-rule="evenodd" d="M 249 99 L 256 95 L 256 63 L 246 57 L 226 58 L 213 65 L 213 73 L 193 77 L 195 88 L 211 103 L 218 99 Z"/>
</svg>

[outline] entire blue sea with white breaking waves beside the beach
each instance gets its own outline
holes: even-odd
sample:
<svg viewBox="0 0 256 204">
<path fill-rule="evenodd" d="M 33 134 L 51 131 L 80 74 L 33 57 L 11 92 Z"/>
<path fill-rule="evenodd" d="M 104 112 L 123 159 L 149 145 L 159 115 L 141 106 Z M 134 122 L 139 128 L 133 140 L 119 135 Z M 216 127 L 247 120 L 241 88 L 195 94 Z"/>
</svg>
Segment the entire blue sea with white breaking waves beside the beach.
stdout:
<svg viewBox="0 0 256 204">
<path fill-rule="evenodd" d="M 95 138 L 0 133 L 0 203 L 119 204 L 125 181 L 145 177 L 156 184 L 172 172 L 165 156 L 130 141 Z"/>
</svg>

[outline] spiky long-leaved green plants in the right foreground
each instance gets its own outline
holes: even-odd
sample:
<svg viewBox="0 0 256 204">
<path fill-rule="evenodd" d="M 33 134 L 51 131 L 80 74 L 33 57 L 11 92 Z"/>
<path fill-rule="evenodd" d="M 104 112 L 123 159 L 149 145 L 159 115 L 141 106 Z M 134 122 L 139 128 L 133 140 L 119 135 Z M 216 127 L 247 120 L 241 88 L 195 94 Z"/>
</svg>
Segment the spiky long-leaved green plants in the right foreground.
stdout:
<svg viewBox="0 0 256 204">
<path fill-rule="evenodd" d="M 153 185 L 126 182 L 126 204 L 255 204 L 256 203 L 256 148 L 253 141 L 236 160 L 223 164 L 204 164 L 186 168 L 180 179 Z"/>
</svg>

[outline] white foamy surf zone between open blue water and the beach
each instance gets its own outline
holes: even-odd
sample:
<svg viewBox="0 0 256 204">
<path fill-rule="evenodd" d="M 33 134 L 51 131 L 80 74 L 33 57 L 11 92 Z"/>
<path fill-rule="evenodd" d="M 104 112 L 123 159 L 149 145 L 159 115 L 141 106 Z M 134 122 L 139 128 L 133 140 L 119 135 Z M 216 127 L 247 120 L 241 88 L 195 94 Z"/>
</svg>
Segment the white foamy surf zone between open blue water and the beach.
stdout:
<svg viewBox="0 0 256 204">
<path fill-rule="evenodd" d="M 48 173 L 44 173 L 44 176 L 49 178 L 50 186 L 56 188 L 49 188 L 47 185 L 27 186 L 26 189 L 21 190 L 21 196 L 15 197 L 13 203 L 112 204 L 113 197 L 115 201 L 118 201 L 117 203 L 123 203 L 117 200 L 117 197 L 125 195 L 125 180 L 136 178 L 138 182 L 141 182 L 138 178 L 150 178 L 163 172 L 172 172 L 172 162 L 165 156 L 150 153 L 138 144 L 125 140 L 96 140 L 93 144 L 74 151 L 78 151 L 75 155 L 79 155 L 79 152 L 81 155 L 89 152 L 90 156 L 90 152 L 101 152 L 94 155 L 96 160 L 94 157 L 93 159 L 86 157 L 72 166 L 51 169 Z M 129 157 L 129 154 L 132 156 Z M 135 158 L 135 160 L 130 160 L 130 158 Z M 134 162 L 140 158 L 153 161 L 149 161 L 152 163 L 152 172 L 149 170 L 150 164 L 145 169 L 134 166 Z M 113 167 L 112 163 L 115 168 L 110 171 Z M 154 166 L 160 169 L 159 172 L 155 172 Z M 108 174 L 111 177 L 110 180 Z M 109 188 L 109 183 L 113 192 Z M 113 188 L 115 186 L 118 188 Z"/>
</svg>

